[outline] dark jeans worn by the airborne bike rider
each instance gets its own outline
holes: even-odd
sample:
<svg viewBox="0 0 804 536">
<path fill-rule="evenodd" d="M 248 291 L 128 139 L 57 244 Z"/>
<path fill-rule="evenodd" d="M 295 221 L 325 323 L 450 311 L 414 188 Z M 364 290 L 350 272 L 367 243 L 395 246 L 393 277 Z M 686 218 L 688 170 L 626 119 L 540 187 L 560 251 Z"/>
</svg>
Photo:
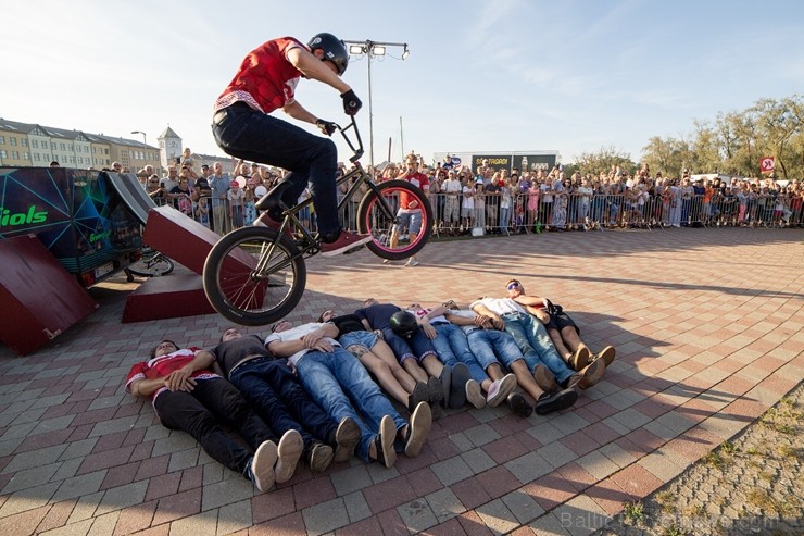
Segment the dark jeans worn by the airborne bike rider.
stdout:
<svg viewBox="0 0 804 536">
<path fill-rule="evenodd" d="M 340 230 L 335 187 L 338 151 L 332 140 L 237 102 L 215 113 L 212 134 L 231 157 L 288 170 L 282 182 L 292 186 L 281 198 L 288 207 L 297 204 L 310 183 L 318 230 L 322 235 Z"/>
</svg>

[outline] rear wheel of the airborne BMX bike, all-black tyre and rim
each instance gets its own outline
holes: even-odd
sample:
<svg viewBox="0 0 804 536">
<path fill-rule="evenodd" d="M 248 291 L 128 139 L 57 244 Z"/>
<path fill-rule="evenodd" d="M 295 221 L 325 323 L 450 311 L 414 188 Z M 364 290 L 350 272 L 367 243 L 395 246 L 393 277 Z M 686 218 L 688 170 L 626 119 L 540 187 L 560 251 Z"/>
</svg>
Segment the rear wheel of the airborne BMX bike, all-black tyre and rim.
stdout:
<svg viewBox="0 0 804 536">
<path fill-rule="evenodd" d="M 246 326 L 276 322 L 301 300 L 307 271 L 293 240 L 266 227 L 241 227 L 206 257 L 204 292 L 225 319 Z"/>
</svg>

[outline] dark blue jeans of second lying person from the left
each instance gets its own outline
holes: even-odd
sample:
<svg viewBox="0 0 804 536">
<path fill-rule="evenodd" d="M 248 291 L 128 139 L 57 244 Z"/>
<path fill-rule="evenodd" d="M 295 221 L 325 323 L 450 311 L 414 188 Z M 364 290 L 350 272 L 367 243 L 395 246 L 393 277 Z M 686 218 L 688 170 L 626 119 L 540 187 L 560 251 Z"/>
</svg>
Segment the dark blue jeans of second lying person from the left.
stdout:
<svg viewBox="0 0 804 536">
<path fill-rule="evenodd" d="M 299 431 L 305 448 L 314 439 L 332 445 L 337 422 L 316 404 L 284 359 L 251 359 L 231 372 L 229 382 L 277 434 Z"/>
</svg>

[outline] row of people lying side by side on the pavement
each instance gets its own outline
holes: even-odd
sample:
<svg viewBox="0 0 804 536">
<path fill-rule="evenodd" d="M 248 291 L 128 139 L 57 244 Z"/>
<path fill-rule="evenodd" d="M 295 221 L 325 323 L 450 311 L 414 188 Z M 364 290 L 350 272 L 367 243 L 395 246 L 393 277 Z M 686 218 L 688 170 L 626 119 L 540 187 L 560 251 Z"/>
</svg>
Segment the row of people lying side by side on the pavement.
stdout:
<svg viewBox="0 0 804 536">
<path fill-rule="evenodd" d="M 418 456 L 442 407 L 507 402 L 523 417 L 564 410 L 614 360 L 612 347 L 591 353 L 549 300 L 517 281 L 506 288 L 466 310 L 369 299 L 352 314 L 280 321 L 265 339 L 230 327 L 209 350 L 163 340 L 126 388 L 262 491 L 290 479 L 301 459 L 313 473 L 355 452 L 391 468 L 398 452 Z"/>
</svg>

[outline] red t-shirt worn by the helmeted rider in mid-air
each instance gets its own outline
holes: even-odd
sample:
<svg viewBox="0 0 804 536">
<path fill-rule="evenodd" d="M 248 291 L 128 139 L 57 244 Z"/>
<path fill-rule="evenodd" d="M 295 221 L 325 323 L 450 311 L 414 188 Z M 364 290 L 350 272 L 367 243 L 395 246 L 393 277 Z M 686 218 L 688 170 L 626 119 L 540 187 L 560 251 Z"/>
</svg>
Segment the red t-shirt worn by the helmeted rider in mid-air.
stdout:
<svg viewBox="0 0 804 536">
<path fill-rule="evenodd" d="M 271 113 L 292 103 L 302 74 L 288 61 L 287 52 L 296 47 L 304 48 L 304 45 L 292 37 L 280 37 L 249 52 L 235 77 L 217 98 L 214 110 L 243 101 L 255 110 Z"/>
</svg>

